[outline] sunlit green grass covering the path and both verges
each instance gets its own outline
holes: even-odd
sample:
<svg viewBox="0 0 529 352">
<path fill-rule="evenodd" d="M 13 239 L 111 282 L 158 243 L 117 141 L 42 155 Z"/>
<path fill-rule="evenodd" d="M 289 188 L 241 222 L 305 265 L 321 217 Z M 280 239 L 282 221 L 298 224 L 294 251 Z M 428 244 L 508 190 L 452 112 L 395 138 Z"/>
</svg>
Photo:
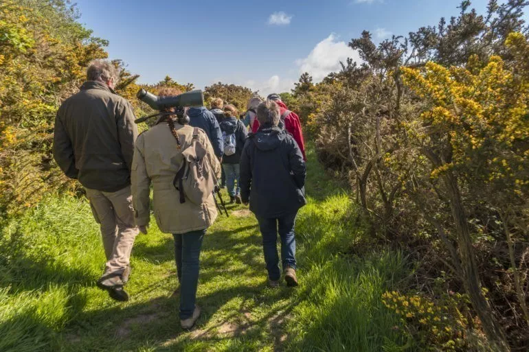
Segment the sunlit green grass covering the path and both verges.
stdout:
<svg viewBox="0 0 529 352">
<path fill-rule="evenodd" d="M 85 200 L 55 197 L 0 237 L 0 351 L 392 351 L 405 344 L 381 294 L 407 274 L 365 236 L 346 192 L 309 150 L 309 204 L 297 219 L 300 287 L 267 288 L 256 220 L 230 206 L 203 244 L 196 329 L 182 331 L 172 236 L 139 235 L 128 303 L 95 287 L 104 267 Z M 227 197 L 225 197 L 227 198 Z M 361 254 L 354 254 L 361 253 Z M 395 350 L 396 351 L 396 350 Z"/>
</svg>

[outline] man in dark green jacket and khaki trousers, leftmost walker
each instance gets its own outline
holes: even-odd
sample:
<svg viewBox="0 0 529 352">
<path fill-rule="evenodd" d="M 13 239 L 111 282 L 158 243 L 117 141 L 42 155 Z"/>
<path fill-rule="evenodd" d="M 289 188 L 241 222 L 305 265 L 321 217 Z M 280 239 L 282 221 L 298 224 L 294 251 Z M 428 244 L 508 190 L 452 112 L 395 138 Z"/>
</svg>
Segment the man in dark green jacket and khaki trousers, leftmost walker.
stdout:
<svg viewBox="0 0 529 352">
<path fill-rule="evenodd" d="M 115 300 L 128 301 L 123 285 L 138 233 L 131 196 L 137 127 L 131 104 L 113 91 L 118 77 L 111 62 L 91 62 L 87 82 L 57 112 L 53 152 L 66 176 L 85 187 L 100 224 L 107 261 L 98 286 Z"/>
</svg>

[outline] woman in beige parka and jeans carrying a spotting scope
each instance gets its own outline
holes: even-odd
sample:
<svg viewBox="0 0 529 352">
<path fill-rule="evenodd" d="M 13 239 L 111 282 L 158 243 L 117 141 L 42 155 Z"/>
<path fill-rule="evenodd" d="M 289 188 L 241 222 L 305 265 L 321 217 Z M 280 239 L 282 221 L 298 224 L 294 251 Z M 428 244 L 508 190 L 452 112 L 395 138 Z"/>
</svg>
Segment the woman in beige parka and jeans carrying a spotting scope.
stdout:
<svg viewBox="0 0 529 352">
<path fill-rule="evenodd" d="M 159 96 L 179 95 L 177 89 L 166 88 Z M 177 113 L 168 108 L 166 113 Z M 140 134 L 136 140 L 132 164 L 132 192 L 137 226 L 146 229 L 150 220 L 149 193 L 153 184 L 155 219 L 163 233 L 175 237 L 175 259 L 180 283 L 180 323 L 190 329 L 200 316 L 195 305 L 199 280 L 199 257 L 206 229 L 217 217 L 213 194 L 203 204 L 180 202 L 179 191 L 173 186 L 175 175 L 184 162 L 182 151 L 196 138 L 203 145 L 216 178 L 221 176 L 221 164 L 210 140 L 199 128 L 187 125 L 184 115 L 160 117 L 157 124 Z M 194 134 L 196 134 L 194 136 Z M 178 292 L 178 290 L 176 291 Z"/>
</svg>

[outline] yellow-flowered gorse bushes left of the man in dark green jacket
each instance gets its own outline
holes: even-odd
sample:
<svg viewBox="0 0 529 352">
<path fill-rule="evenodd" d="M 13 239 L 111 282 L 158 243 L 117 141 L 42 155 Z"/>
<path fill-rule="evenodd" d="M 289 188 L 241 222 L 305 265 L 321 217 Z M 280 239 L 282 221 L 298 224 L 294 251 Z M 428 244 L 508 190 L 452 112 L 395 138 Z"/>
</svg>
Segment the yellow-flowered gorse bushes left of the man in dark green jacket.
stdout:
<svg viewBox="0 0 529 352">
<path fill-rule="evenodd" d="M 0 3 L 0 213 L 71 186 L 51 156 L 56 109 L 78 89 L 106 42 L 76 22 L 64 1 Z"/>
</svg>

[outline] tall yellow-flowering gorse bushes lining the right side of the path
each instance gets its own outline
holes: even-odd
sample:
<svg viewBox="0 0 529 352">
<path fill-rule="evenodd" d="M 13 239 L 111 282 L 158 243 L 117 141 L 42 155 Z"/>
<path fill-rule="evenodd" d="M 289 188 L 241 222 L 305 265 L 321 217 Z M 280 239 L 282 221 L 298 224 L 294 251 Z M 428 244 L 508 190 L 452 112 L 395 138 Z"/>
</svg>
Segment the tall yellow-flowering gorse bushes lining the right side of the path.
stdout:
<svg viewBox="0 0 529 352">
<path fill-rule="evenodd" d="M 319 159 L 349 180 L 373 241 L 406 244 L 419 259 L 410 294 L 445 303 L 447 292 L 462 294 L 473 309 L 460 322 L 499 350 L 526 349 L 527 3 L 490 1 L 485 15 L 470 5 L 378 45 L 363 32 L 349 43 L 361 64 L 348 60 L 318 84 L 304 74 L 286 98 Z M 466 350 L 435 341 L 425 348 Z"/>
</svg>

